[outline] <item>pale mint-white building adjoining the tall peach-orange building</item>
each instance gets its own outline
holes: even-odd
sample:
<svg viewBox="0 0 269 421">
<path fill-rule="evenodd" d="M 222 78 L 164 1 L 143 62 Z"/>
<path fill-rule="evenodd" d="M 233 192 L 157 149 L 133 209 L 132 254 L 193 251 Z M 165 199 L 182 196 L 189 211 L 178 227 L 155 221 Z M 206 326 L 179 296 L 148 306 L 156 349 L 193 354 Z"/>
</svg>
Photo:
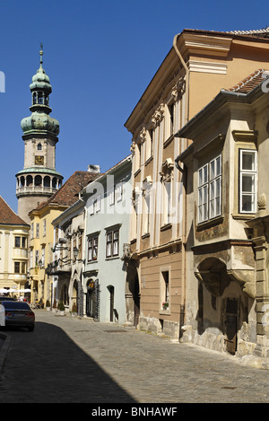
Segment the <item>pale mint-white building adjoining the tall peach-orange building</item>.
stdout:
<svg viewBox="0 0 269 421">
<path fill-rule="evenodd" d="M 126 321 L 126 263 L 131 211 L 131 156 L 82 190 L 85 202 L 84 312 L 95 320 Z"/>
</svg>

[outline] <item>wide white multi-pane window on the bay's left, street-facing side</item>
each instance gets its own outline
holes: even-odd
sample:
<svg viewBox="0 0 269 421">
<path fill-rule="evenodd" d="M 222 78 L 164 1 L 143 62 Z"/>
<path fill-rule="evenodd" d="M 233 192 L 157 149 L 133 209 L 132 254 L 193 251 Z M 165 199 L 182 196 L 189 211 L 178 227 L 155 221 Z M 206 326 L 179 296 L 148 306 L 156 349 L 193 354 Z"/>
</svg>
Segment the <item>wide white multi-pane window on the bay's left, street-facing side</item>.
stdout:
<svg viewBox="0 0 269 421">
<path fill-rule="evenodd" d="M 198 223 L 221 215 L 221 155 L 198 170 Z"/>
</svg>

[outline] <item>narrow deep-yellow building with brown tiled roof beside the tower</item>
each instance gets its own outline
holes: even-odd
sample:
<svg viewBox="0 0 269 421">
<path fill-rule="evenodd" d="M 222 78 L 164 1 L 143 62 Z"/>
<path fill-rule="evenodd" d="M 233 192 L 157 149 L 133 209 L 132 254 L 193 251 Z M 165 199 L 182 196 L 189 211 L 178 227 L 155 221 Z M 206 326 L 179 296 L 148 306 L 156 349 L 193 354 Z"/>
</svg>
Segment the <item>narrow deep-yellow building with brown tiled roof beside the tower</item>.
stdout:
<svg viewBox="0 0 269 421">
<path fill-rule="evenodd" d="M 48 264 L 52 263 L 54 227 L 52 221 L 67 207 L 74 205 L 78 193 L 96 174 L 90 171 L 75 171 L 65 184 L 36 209 L 30 211 L 30 286 L 31 303 L 44 305 L 52 300 L 52 276 Z"/>
</svg>

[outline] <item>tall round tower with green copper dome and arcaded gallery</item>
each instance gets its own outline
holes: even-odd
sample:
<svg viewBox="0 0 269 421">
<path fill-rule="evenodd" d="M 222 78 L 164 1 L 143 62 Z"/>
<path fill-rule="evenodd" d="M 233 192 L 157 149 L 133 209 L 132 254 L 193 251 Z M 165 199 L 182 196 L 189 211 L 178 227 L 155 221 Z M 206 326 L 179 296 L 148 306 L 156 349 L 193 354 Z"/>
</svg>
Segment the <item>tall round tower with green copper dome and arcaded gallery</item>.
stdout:
<svg viewBox="0 0 269 421">
<path fill-rule="evenodd" d="M 28 224 L 29 212 L 47 200 L 62 185 L 63 177 L 56 171 L 56 143 L 59 123 L 49 116 L 49 95 L 52 88 L 43 69 L 40 50 L 40 66 L 30 83 L 30 117 L 21 122 L 24 142 L 24 166 L 16 174 L 18 215 Z"/>
</svg>

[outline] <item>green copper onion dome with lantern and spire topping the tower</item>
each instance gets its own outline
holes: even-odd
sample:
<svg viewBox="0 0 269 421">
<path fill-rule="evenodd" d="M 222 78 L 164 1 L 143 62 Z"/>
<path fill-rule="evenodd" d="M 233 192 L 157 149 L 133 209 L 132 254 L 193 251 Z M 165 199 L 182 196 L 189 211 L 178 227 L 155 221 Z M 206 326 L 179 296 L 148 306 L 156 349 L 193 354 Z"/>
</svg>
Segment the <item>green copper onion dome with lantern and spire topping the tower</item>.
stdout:
<svg viewBox="0 0 269 421">
<path fill-rule="evenodd" d="M 48 106 L 49 94 L 52 92 L 51 84 L 48 75 L 43 69 L 43 46 L 41 44 L 40 66 L 36 75 L 32 76 L 32 83 L 30 83 L 31 92 L 31 116 L 22 118 L 21 127 L 24 135 L 32 132 L 49 132 L 57 136 L 60 131 L 59 122 L 55 118 L 49 116 L 51 108 Z"/>
</svg>

